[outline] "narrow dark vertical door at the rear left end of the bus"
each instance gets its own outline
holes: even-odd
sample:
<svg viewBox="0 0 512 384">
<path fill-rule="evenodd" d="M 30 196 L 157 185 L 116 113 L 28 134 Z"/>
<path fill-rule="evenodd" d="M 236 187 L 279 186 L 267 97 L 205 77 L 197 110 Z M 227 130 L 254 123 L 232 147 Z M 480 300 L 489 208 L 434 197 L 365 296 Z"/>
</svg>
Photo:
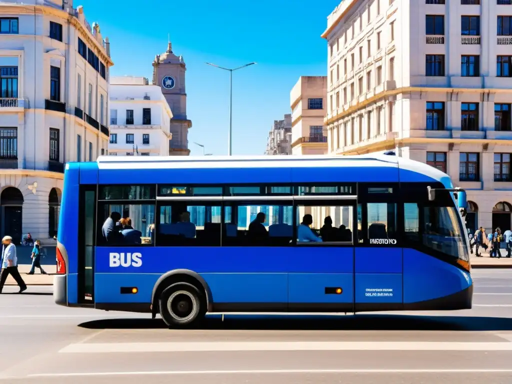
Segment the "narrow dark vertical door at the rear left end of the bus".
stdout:
<svg viewBox="0 0 512 384">
<path fill-rule="evenodd" d="M 78 303 L 94 303 L 96 185 L 80 185 L 78 214 Z"/>
</svg>

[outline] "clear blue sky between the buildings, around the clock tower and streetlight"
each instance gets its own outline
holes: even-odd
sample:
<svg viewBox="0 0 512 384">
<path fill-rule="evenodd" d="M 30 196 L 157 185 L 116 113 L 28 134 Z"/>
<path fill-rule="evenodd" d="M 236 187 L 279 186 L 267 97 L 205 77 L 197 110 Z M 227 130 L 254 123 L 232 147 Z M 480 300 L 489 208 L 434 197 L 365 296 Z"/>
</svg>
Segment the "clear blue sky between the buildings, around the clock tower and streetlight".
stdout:
<svg viewBox="0 0 512 384">
<path fill-rule="evenodd" d="M 173 51 L 187 65 L 191 155 L 227 154 L 229 72 L 233 72 L 233 155 L 265 151 L 274 120 L 290 113 L 290 90 L 301 75 L 326 75 L 327 42 L 320 37 L 340 0 L 81 0 L 86 18 L 108 36 L 111 76 L 152 78 L 151 63 Z"/>
</svg>

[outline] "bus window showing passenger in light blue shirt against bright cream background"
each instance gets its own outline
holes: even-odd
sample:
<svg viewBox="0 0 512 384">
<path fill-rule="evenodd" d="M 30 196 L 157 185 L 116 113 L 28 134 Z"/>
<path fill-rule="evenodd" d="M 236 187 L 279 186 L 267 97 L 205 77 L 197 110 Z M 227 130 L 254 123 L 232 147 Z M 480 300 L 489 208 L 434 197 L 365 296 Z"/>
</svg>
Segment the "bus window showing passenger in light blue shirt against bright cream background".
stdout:
<svg viewBox="0 0 512 384">
<path fill-rule="evenodd" d="M 352 206 L 297 207 L 297 244 L 353 243 Z"/>
</svg>

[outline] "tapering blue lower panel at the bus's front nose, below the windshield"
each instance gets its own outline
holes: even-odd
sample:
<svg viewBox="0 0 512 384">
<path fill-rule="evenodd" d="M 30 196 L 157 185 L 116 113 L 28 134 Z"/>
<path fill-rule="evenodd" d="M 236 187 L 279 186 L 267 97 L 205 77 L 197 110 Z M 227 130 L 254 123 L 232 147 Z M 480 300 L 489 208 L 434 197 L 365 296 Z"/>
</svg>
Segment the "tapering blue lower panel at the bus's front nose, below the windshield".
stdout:
<svg viewBox="0 0 512 384">
<path fill-rule="evenodd" d="M 473 284 L 471 275 L 414 249 L 403 249 L 403 302 L 444 297 Z"/>
</svg>

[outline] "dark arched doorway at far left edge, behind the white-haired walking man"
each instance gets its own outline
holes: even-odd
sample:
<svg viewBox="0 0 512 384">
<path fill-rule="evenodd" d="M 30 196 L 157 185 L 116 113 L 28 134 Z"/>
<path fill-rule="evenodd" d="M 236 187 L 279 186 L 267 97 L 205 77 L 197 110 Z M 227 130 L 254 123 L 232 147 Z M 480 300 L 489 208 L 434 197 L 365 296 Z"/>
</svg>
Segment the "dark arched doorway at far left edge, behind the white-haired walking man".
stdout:
<svg viewBox="0 0 512 384">
<path fill-rule="evenodd" d="M 2 206 L 2 237 L 10 236 L 14 244 L 23 238 L 23 195 L 18 188 L 7 187 L 0 195 Z"/>
</svg>

